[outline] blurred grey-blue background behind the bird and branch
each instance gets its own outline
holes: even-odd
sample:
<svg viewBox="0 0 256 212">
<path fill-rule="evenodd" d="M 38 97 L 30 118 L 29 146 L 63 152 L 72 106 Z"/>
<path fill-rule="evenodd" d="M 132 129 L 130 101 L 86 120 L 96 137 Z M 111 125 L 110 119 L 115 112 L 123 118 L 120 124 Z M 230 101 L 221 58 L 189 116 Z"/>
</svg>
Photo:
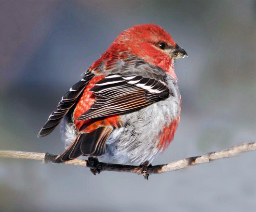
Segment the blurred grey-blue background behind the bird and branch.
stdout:
<svg viewBox="0 0 256 212">
<path fill-rule="evenodd" d="M 62 95 L 118 34 L 164 27 L 181 121 L 153 165 L 256 141 L 256 1 L 0 1 L 0 150 L 60 154 L 59 128 L 37 138 Z M 253 212 L 256 153 L 150 175 L 0 159 L 2 212 Z"/>
</svg>

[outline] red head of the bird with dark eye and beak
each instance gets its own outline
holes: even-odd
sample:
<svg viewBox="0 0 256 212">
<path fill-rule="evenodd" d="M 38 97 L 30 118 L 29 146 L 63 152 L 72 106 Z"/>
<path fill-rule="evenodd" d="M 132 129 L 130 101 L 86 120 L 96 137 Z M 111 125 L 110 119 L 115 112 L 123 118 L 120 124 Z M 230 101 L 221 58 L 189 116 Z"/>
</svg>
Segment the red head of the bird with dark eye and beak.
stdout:
<svg viewBox="0 0 256 212">
<path fill-rule="evenodd" d="M 123 31 L 111 47 L 135 54 L 146 62 L 161 67 L 174 78 L 175 59 L 188 55 L 168 32 L 153 24 L 135 25 Z"/>
</svg>

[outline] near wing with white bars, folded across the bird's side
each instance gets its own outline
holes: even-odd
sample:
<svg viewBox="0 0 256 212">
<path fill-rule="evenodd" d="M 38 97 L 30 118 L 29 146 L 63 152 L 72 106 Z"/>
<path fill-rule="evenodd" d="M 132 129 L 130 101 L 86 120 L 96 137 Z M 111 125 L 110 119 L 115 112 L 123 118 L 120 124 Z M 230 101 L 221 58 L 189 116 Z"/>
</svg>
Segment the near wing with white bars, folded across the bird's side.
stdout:
<svg viewBox="0 0 256 212">
<path fill-rule="evenodd" d="M 94 104 L 78 118 L 79 121 L 139 110 L 170 94 L 164 80 L 121 74 L 106 76 L 91 91 L 95 95 Z"/>
</svg>

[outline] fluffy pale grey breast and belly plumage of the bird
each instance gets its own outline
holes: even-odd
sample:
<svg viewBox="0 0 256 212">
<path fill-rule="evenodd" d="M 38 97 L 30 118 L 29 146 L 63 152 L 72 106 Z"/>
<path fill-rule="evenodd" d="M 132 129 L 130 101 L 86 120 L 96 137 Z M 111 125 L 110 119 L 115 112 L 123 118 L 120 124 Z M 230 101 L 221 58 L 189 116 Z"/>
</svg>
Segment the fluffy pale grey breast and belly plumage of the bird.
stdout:
<svg viewBox="0 0 256 212">
<path fill-rule="evenodd" d="M 158 155 L 157 135 L 180 113 L 180 94 L 171 76 L 167 77 L 167 85 L 171 91 L 169 98 L 121 116 L 123 127 L 113 130 L 109 136 L 101 161 L 140 164 L 151 162 Z"/>
</svg>

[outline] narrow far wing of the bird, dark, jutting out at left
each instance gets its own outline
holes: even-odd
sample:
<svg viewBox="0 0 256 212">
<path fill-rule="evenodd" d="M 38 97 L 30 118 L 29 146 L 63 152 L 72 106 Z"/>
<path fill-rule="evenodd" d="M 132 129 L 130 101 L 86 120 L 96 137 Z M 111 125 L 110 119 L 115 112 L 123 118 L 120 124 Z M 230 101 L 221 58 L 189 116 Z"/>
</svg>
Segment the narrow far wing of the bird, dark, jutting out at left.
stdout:
<svg viewBox="0 0 256 212">
<path fill-rule="evenodd" d="M 84 88 L 93 76 L 93 73 L 87 71 L 83 75 L 82 79 L 69 89 L 69 91 L 62 97 L 62 99 L 58 103 L 57 108 L 49 116 L 47 122 L 41 128 L 38 137 L 47 136 L 54 130 L 54 128 L 60 123 L 61 119 L 67 114 L 70 108 L 79 99 L 81 92 L 84 90 Z"/>
</svg>

